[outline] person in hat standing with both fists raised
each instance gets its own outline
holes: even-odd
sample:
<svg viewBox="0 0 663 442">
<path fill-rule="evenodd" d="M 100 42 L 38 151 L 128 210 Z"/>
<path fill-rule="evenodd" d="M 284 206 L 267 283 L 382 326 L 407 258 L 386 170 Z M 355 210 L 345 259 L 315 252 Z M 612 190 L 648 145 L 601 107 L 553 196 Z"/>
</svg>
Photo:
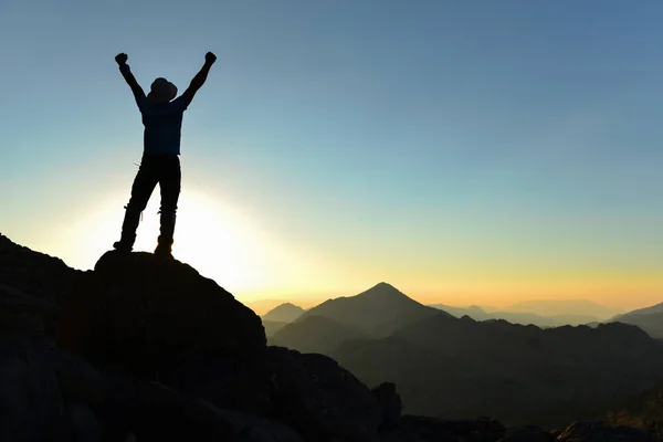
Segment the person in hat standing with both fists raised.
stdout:
<svg viewBox="0 0 663 442">
<path fill-rule="evenodd" d="M 152 82 L 150 92 L 146 96 L 143 87 L 134 77 L 127 59 L 125 53 L 115 56 L 119 72 L 136 98 L 143 116 L 145 133 L 143 159 L 131 186 L 131 197 L 128 204 L 125 206 L 122 236 L 113 246 L 122 252 L 130 252 L 134 249 L 140 213 L 145 210 L 158 183 L 161 191 L 160 234 L 155 254 L 172 257 L 172 236 L 181 185 L 179 154 L 182 116 L 198 90 L 204 84 L 217 56 L 211 52 L 204 55 L 202 69 L 191 80 L 187 91 L 178 98 L 175 98 L 177 96 L 175 84 L 164 77 Z"/>
</svg>

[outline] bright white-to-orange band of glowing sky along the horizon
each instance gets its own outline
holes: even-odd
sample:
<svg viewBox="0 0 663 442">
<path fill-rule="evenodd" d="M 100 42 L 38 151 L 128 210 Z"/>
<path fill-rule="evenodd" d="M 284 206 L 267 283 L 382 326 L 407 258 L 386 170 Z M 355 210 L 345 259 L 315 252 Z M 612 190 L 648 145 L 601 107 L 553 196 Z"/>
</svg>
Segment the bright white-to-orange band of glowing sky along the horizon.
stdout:
<svg viewBox="0 0 663 442">
<path fill-rule="evenodd" d="M 126 193 L 126 188 L 106 192 L 86 206 L 86 213 L 73 213 L 74 223 L 59 225 L 48 235 L 30 233 L 22 225 L 3 233 L 73 267 L 91 269 L 119 236 Z M 136 250 L 151 251 L 156 245 L 158 196 L 156 190 L 144 212 Z M 278 232 L 265 230 L 267 219 L 260 221 L 189 187 L 180 200 L 173 253 L 249 305 L 277 299 L 312 306 L 357 295 L 379 282 L 423 304 L 502 307 L 530 299 L 588 299 L 633 309 L 663 301 L 663 271 L 655 266 L 547 269 L 517 261 L 491 266 L 482 255 L 435 262 L 430 255 L 415 257 L 413 253 L 407 261 L 388 253 L 370 261 L 351 252 L 344 255 L 338 250 L 313 250 L 285 241 Z M 12 238 L 13 231 L 20 234 Z"/>
</svg>

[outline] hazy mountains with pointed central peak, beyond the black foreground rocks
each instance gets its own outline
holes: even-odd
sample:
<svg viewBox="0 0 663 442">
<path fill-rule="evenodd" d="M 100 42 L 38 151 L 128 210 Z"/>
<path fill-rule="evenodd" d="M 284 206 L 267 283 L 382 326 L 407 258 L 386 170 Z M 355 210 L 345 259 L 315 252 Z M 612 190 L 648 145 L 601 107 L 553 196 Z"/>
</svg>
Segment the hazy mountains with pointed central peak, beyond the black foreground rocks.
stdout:
<svg viewBox="0 0 663 442">
<path fill-rule="evenodd" d="M 451 311 L 380 283 L 304 312 L 271 343 L 332 356 L 369 386 L 393 381 L 406 411 L 450 419 L 555 425 L 600 415 L 663 378 L 663 346 L 634 326 L 541 329 L 480 307 Z"/>
</svg>

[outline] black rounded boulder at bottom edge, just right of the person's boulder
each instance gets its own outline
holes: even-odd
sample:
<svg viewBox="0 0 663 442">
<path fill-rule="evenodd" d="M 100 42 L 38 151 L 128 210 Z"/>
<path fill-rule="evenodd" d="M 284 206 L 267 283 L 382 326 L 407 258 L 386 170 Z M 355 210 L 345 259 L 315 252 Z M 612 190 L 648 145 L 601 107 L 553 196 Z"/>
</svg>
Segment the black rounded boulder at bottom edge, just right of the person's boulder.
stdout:
<svg viewBox="0 0 663 442">
<path fill-rule="evenodd" d="M 375 394 L 326 356 L 267 347 L 271 417 L 307 441 L 373 441 L 382 420 Z"/>
</svg>

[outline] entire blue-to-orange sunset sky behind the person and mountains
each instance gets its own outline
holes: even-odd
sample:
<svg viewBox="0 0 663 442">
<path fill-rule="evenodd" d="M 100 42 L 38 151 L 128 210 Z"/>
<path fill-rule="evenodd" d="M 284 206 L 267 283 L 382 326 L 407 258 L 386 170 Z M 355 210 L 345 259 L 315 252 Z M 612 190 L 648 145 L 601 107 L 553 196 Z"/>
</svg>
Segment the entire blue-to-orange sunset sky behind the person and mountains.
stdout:
<svg viewBox="0 0 663 442">
<path fill-rule="evenodd" d="M 92 269 L 148 88 L 185 114 L 173 254 L 240 301 L 663 301 L 663 3 L 0 0 L 0 232 Z M 158 189 L 137 250 L 158 235 Z"/>
</svg>

